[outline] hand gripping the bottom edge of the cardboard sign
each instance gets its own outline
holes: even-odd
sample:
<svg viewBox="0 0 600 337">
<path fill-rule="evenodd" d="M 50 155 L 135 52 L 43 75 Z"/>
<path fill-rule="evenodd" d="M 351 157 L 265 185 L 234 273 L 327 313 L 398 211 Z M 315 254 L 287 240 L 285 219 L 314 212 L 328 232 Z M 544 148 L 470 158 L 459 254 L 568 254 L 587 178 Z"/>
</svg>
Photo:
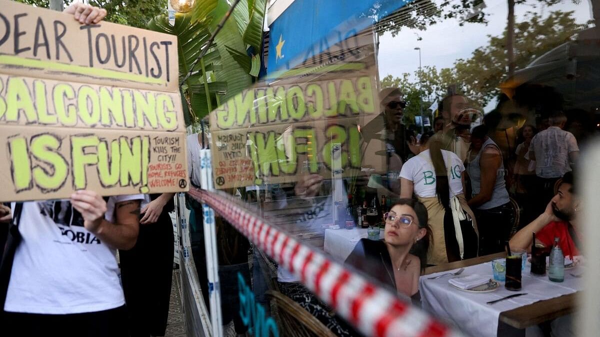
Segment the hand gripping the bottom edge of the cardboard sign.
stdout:
<svg viewBox="0 0 600 337">
<path fill-rule="evenodd" d="M 81 213 L 84 220 L 83 227 L 96 234 L 104 220 L 106 201 L 94 191 L 80 189 L 71 194 L 71 204 Z"/>
</svg>

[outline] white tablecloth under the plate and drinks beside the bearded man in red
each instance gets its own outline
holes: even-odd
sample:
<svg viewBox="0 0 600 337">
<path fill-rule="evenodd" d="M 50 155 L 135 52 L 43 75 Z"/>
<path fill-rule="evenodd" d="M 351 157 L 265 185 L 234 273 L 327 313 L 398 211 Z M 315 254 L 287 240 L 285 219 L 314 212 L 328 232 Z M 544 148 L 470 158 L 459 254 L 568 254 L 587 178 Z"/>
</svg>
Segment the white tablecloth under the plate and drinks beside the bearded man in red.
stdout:
<svg viewBox="0 0 600 337">
<path fill-rule="evenodd" d="M 583 267 L 565 270 L 565 281 L 562 283 L 550 282 L 548 275 L 533 276 L 529 268 L 527 264 L 523 270 L 523 288 L 520 291 L 506 290 L 503 282 L 500 282 L 500 287 L 491 293 L 469 293 L 452 287 L 448 283 L 450 275 L 438 279 L 427 278 L 440 273 L 422 276 L 419 280 L 419 290 L 423 309 L 442 320 L 449 320 L 468 335 L 491 337 L 497 336 L 500 312 L 582 290 L 581 279 L 574 278 L 571 273 L 579 275 L 583 272 Z M 458 269 L 448 272 L 456 270 Z M 474 273 L 493 278 L 491 262 L 467 267 L 461 276 Z M 503 300 L 493 305 L 485 303 L 515 293 L 527 293 L 527 295 Z"/>
</svg>

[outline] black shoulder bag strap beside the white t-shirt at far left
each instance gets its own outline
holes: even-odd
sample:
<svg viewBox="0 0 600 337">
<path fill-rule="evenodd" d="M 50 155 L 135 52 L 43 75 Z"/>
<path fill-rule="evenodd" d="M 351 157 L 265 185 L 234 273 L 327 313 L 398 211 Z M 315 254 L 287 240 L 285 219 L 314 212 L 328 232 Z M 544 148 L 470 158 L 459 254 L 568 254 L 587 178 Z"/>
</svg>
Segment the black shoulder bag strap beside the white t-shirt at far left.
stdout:
<svg viewBox="0 0 600 337">
<path fill-rule="evenodd" d="M 13 270 L 14 253 L 17 251 L 17 246 L 21 242 L 21 234 L 19 233 L 19 221 L 23 210 L 23 203 L 14 205 L 13 219 L 8 225 L 8 235 L 4 249 L 2 250 L 2 260 L 0 261 L 0 312 L 4 312 L 4 302 L 8 292 L 8 283 L 10 282 L 10 274 Z"/>
</svg>

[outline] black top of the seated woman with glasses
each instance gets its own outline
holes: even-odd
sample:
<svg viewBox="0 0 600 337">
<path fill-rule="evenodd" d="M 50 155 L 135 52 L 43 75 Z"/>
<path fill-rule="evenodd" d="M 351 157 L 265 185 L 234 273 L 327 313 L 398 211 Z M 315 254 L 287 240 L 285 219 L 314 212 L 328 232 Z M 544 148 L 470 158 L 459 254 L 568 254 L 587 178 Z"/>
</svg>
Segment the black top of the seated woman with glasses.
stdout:
<svg viewBox="0 0 600 337">
<path fill-rule="evenodd" d="M 349 264 L 364 275 L 375 278 L 389 290 L 397 293 L 392 258 L 389 256 L 388 247 L 382 240 L 359 240 L 344 264 Z M 410 298 L 413 305 L 420 305 L 421 295 L 418 291 Z"/>
</svg>

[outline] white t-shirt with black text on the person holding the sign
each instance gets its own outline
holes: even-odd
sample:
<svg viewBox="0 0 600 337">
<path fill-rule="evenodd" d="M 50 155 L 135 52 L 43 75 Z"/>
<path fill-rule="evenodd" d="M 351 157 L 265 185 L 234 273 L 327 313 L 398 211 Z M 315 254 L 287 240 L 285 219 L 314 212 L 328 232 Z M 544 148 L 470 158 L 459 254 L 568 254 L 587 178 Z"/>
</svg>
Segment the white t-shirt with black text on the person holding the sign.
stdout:
<svg viewBox="0 0 600 337">
<path fill-rule="evenodd" d="M 110 197 L 104 218 L 115 222 L 116 203 L 143 198 Z M 23 240 L 14 256 L 5 311 L 77 314 L 125 304 L 116 249 L 83 227 L 70 201 L 23 203 L 19 231 Z"/>
</svg>

